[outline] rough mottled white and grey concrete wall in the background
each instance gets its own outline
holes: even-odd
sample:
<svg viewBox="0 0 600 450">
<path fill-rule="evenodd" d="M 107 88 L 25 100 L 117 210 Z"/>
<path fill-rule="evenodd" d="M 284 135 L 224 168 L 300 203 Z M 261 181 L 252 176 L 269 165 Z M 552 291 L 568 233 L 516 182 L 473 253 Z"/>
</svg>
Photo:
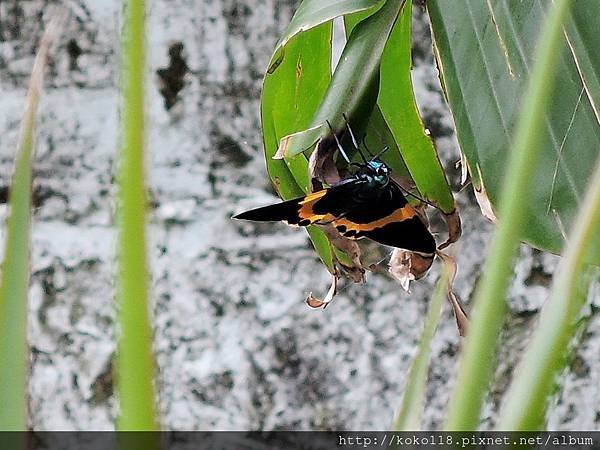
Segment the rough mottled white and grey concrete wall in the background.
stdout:
<svg viewBox="0 0 600 450">
<path fill-rule="evenodd" d="M 0 1 L 2 198 L 35 43 L 51 3 Z M 52 60 L 35 165 L 30 420 L 39 430 L 112 429 L 121 6 L 118 0 L 63 3 L 72 20 Z M 385 276 L 371 275 L 366 285 L 342 286 L 327 310 L 312 311 L 303 298 L 324 292 L 328 275 L 304 232 L 229 219 L 234 211 L 275 200 L 261 154 L 260 83 L 296 5 L 150 2 L 149 253 L 167 429 L 383 429 L 415 353 L 437 267 L 410 295 Z M 426 17 L 415 15 L 419 102 L 458 190 L 452 120 L 433 67 Z M 468 189 L 457 199 L 464 237 L 456 290 L 468 305 L 492 227 Z M 5 205 L 0 211 L 4 217 Z M 435 221 L 434 227 L 442 229 Z M 483 428 L 493 423 L 556 259 L 524 248 L 515 265 L 512 314 Z M 600 321 L 589 314 L 583 344 L 562 377 L 565 391 L 550 411 L 554 429 L 600 423 Z M 459 347 L 446 308 L 433 343 L 426 428 L 441 423 Z"/>
</svg>

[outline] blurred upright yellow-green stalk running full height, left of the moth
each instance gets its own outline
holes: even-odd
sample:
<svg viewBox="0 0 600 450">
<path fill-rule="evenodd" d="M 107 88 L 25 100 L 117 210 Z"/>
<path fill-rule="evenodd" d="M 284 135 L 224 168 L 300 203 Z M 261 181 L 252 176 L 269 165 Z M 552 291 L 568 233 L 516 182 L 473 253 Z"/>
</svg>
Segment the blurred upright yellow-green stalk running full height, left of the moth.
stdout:
<svg viewBox="0 0 600 450">
<path fill-rule="evenodd" d="M 144 186 L 145 2 L 127 0 L 123 39 L 123 130 L 119 166 L 120 339 L 117 387 L 120 430 L 156 430 L 154 360 L 149 322 Z"/>
</svg>

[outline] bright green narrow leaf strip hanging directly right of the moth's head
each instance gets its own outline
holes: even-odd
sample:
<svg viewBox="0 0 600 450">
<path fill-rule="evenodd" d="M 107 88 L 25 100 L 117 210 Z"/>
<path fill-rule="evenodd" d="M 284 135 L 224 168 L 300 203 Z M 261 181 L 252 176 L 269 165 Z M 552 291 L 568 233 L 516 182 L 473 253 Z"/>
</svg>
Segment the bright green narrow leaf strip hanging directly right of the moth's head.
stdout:
<svg viewBox="0 0 600 450">
<path fill-rule="evenodd" d="M 377 104 L 421 196 L 443 212 L 454 211 L 454 197 L 431 138 L 425 133 L 411 78 L 412 0 L 407 0 L 385 46 Z"/>
</svg>

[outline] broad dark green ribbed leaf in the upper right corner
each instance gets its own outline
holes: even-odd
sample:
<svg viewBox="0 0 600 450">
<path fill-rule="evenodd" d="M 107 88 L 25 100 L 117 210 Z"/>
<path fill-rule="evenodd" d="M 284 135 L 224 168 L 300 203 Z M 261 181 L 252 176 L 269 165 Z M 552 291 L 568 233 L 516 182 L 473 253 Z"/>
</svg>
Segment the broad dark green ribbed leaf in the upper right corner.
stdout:
<svg viewBox="0 0 600 450">
<path fill-rule="evenodd" d="M 555 49 L 560 55 L 560 95 L 545 112 L 532 195 L 521 205 L 527 227 L 520 238 L 552 252 L 563 247 L 561 229 L 571 228 L 600 153 L 599 118 L 591 103 L 598 104 L 594 11 L 600 12 L 600 6 L 595 1 L 574 3 L 574 20 L 566 26 L 572 49 L 564 37 Z M 539 57 L 534 43 L 552 2 L 465 0 L 449 8 L 445 1 L 431 0 L 427 5 L 461 151 L 474 187 L 487 192 L 497 208 L 502 183 L 510 183 L 513 176 L 507 170 L 508 148 Z M 600 263 L 600 243 L 596 245 L 594 261 Z"/>
</svg>

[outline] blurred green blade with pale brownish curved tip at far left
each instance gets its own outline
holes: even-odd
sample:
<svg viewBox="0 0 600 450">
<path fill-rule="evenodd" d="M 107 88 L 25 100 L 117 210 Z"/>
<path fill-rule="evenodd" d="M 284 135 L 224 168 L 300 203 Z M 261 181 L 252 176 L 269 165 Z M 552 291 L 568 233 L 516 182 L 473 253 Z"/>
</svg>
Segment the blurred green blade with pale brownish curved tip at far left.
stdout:
<svg viewBox="0 0 600 450">
<path fill-rule="evenodd" d="M 0 278 L 0 430 L 27 429 L 27 291 L 31 237 L 31 160 L 35 116 L 44 84 L 49 47 L 64 20 L 57 14 L 49 24 L 35 58 L 25 115 L 15 156 L 4 261 Z"/>
</svg>

